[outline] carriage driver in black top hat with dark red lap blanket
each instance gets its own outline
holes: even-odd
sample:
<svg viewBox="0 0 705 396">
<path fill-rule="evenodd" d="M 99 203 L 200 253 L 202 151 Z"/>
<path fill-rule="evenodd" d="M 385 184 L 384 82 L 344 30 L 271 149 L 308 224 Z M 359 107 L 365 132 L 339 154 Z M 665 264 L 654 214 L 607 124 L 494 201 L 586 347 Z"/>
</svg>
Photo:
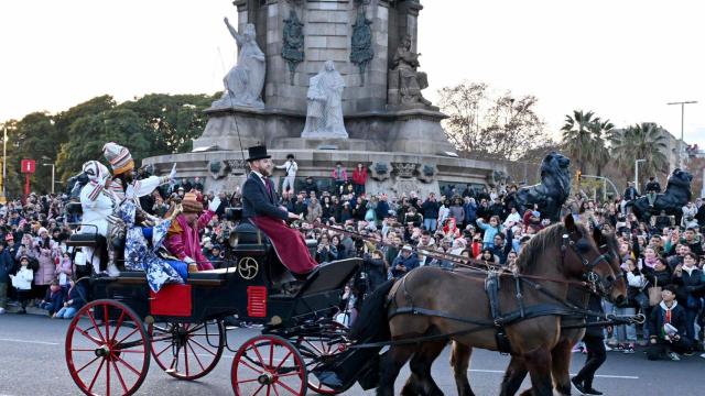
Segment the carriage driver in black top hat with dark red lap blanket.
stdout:
<svg viewBox="0 0 705 396">
<path fill-rule="evenodd" d="M 257 226 L 272 241 L 279 260 L 294 275 L 306 275 L 317 263 L 311 256 L 306 242 L 299 231 L 286 227 L 284 220 L 299 220 L 283 206 L 278 206 L 276 191 L 269 176 L 273 163 L 267 147 L 257 145 L 248 148 L 247 158 L 252 172 L 242 185 L 242 218 Z"/>
</svg>

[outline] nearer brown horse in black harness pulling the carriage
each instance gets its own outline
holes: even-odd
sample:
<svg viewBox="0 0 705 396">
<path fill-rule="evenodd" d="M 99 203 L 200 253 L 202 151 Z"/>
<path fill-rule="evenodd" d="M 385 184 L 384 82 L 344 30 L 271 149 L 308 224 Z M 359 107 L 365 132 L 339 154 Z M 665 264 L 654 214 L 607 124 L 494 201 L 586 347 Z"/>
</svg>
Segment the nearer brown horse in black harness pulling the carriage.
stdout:
<svg viewBox="0 0 705 396">
<path fill-rule="evenodd" d="M 551 350 L 560 340 L 561 316 L 549 310 L 539 312 L 539 307 L 558 307 L 557 300 L 567 297 L 568 285 L 578 284 L 588 273 L 599 292 L 606 294 L 612 289 L 615 273 L 587 229 L 571 216 L 532 238 L 517 265 L 519 283 L 524 285 L 521 302 L 527 315 L 508 322 L 506 333 L 511 353 L 520 355 L 527 365 L 534 393 L 552 395 Z M 394 285 L 389 294 L 388 316 L 391 339 L 398 343 L 382 359 L 378 395 L 393 395 L 399 370 L 412 356 L 412 378 L 402 394 L 442 395 L 431 377 L 431 364 L 448 340 L 458 345 L 499 350 L 485 279 L 481 272 L 421 267 Z M 499 278 L 499 307 L 511 307 L 512 314 L 519 306 L 517 283 L 511 275 Z M 612 297 L 620 295 L 612 290 Z M 432 341 L 422 343 L 419 338 Z M 416 342 L 404 343 L 410 339 Z M 460 376 L 466 378 L 467 363 L 465 367 L 463 362 L 454 363 L 456 382 Z M 466 391 L 471 392 L 469 385 L 467 389 L 458 388 L 460 394 Z"/>
</svg>

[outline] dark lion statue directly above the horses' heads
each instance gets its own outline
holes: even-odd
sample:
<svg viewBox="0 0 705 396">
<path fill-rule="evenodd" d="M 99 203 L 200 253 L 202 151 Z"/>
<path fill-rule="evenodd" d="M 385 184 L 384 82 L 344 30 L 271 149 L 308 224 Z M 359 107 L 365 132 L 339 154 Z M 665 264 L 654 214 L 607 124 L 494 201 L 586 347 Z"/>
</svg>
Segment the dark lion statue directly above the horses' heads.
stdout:
<svg viewBox="0 0 705 396">
<path fill-rule="evenodd" d="M 561 207 L 571 195 L 571 160 L 552 152 L 541 162 L 541 184 L 517 191 L 517 205 L 520 213 L 539 205 L 541 217 L 552 222 L 558 221 Z"/>
</svg>

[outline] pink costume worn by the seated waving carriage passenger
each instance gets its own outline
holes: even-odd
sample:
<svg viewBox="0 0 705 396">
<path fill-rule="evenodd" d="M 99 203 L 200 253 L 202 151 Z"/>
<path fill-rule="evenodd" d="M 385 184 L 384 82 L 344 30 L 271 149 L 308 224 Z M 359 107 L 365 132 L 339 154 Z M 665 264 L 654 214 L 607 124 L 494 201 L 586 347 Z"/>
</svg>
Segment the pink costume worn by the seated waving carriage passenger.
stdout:
<svg viewBox="0 0 705 396">
<path fill-rule="evenodd" d="M 193 258 L 198 265 L 198 271 L 213 270 L 213 264 L 203 255 L 200 250 L 198 230 L 204 229 L 214 215 L 215 212 L 212 210 L 200 215 L 196 221 L 195 229 L 188 226 L 184 215 L 178 215 L 169 228 L 164 246 L 181 261 L 185 261 L 186 257 Z"/>
</svg>

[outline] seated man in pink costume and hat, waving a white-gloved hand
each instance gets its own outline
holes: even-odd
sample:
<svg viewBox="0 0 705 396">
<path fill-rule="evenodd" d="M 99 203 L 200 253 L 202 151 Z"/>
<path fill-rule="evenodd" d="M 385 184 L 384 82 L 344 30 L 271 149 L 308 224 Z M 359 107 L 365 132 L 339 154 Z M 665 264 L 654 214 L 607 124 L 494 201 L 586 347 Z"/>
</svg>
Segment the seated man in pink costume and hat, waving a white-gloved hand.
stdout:
<svg viewBox="0 0 705 396">
<path fill-rule="evenodd" d="M 220 206 L 220 198 L 215 197 L 208 204 L 208 210 L 203 212 L 200 204 L 194 193 L 186 193 L 181 201 L 183 213 L 176 216 L 166 235 L 164 245 L 176 258 L 188 264 L 188 272 L 213 270 L 213 264 L 200 250 L 198 231 L 206 228 Z"/>
</svg>

